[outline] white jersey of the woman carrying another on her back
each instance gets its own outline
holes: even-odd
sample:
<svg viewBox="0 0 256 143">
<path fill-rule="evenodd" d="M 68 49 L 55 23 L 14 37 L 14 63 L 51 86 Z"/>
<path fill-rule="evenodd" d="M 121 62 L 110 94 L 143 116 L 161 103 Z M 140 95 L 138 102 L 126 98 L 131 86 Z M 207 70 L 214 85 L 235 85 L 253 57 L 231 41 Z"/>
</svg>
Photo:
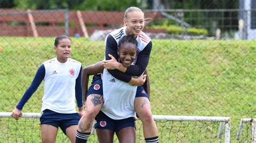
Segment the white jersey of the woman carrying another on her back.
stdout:
<svg viewBox="0 0 256 143">
<path fill-rule="evenodd" d="M 120 120 L 134 117 L 134 99 L 137 86 L 114 78 L 107 69 L 103 71 L 102 111 L 111 119 Z"/>
</svg>

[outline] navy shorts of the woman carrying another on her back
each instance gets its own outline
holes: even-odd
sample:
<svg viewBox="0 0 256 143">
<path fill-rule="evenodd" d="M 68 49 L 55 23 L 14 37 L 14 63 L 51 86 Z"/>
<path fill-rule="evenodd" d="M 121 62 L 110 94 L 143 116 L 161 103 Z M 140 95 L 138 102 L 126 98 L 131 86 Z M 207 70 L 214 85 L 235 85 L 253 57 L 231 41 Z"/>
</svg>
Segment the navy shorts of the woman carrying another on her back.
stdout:
<svg viewBox="0 0 256 143">
<path fill-rule="evenodd" d="M 102 111 L 99 111 L 98 115 L 95 117 L 95 120 L 96 120 L 95 128 L 110 130 L 116 133 L 118 133 L 122 128 L 125 128 L 125 127 L 136 128 L 135 118 L 133 117 L 114 120 L 106 116 L 105 113 L 103 113 Z"/>
</svg>

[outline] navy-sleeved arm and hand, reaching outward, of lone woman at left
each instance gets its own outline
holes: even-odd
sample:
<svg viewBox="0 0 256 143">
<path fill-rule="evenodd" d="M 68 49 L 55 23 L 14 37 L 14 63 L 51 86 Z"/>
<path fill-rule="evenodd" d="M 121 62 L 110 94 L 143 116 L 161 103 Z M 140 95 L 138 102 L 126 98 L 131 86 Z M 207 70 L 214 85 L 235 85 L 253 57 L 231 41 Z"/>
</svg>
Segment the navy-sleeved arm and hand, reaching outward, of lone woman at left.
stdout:
<svg viewBox="0 0 256 143">
<path fill-rule="evenodd" d="M 24 93 L 24 95 L 21 98 L 21 101 L 19 101 L 19 103 L 16 106 L 16 108 L 14 109 L 14 111 L 12 111 L 12 117 L 14 117 L 16 120 L 18 120 L 18 118 L 22 115 L 23 106 L 26 104 L 26 102 L 28 102 L 29 98 L 37 90 L 37 88 L 43 81 L 44 76 L 45 76 L 45 67 L 44 67 L 44 65 L 41 65 L 38 68 L 37 73 L 31 83 L 30 87 Z"/>
</svg>

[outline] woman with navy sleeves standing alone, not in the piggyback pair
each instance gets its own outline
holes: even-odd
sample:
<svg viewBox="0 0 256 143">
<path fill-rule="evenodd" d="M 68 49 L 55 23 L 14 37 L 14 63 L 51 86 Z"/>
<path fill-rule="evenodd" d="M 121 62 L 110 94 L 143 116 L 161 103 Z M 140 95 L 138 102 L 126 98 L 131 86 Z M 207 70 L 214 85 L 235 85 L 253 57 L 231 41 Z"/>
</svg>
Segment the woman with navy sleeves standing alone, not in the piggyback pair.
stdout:
<svg viewBox="0 0 256 143">
<path fill-rule="evenodd" d="M 12 111 L 12 117 L 18 120 L 22 116 L 23 106 L 44 80 L 40 118 L 42 142 L 55 142 L 58 127 L 71 142 L 75 142 L 77 124 L 83 113 L 82 65 L 69 58 L 71 39 L 68 36 L 59 35 L 55 39 L 54 50 L 57 57 L 45 61 L 38 68 L 30 87 Z M 76 111 L 75 98 L 79 112 Z"/>
</svg>

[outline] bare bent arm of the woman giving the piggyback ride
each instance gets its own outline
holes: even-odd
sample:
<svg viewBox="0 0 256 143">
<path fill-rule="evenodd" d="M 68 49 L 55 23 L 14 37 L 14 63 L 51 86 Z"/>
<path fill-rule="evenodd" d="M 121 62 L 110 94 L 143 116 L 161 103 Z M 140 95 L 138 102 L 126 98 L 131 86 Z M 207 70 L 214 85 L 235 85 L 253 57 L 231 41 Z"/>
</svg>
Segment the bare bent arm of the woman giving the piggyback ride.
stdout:
<svg viewBox="0 0 256 143">
<path fill-rule="evenodd" d="M 89 76 L 103 73 L 103 70 L 104 70 L 103 61 L 99 61 L 93 65 L 87 66 L 82 70 L 82 91 L 83 91 L 84 105 L 86 102 L 86 95 L 88 91 Z"/>
</svg>

